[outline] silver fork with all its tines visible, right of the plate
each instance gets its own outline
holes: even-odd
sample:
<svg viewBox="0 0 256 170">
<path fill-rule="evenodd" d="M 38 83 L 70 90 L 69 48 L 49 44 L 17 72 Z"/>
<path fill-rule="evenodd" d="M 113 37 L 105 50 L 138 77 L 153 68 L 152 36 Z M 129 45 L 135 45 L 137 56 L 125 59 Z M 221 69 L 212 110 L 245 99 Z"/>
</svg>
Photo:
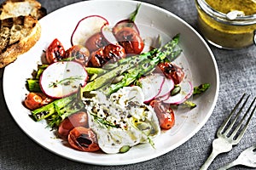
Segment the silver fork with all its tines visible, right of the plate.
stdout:
<svg viewBox="0 0 256 170">
<path fill-rule="evenodd" d="M 236 110 L 238 110 L 238 107 L 241 104 L 241 101 L 244 99 L 245 96 L 246 96 L 246 94 L 242 95 L 241 99 L 236 104 L 233 111 L 231 111 L 230 116 L 228 116 L 224 120 L 222 125 L 218 128 L 218 132 L 217 132 L 217 137 L 218 138 L 214 139 L 212 141 L 212 153 L 207 158 L 207 161 L 202 165 L 201 170 L 207 169 L 210 166 L 210 164 L 212 163 L 212 161 L 215 159 L 215 157 L 218 156 L 218 154 L 230 151 L 232 149 L 233 145 L 236 145 L 240 142 L 242 136 L 246 132 L 248 124 L 249 124 L 250 120 L 252 119 L 253 113 L 256 109 L 256 105 L 254 106 L 253 111 L 251 111 L 249 117 L 247 118 L 247 122 L 245 123 L 244 127 L 242 127 L 241 132 L 238 133 L 238 131 L 241 128 L 241 125 L 243 124 L 247 115 L 249 114 L 250 110 L 252 109 L 256 98 L 253 99 L 251 105 L 247 109 L 247 111 L 244 114 L 244 116 L 242 117 L 241 121 L 238 123 L 235 130 L 230 134 L 230 136 L 228 136 L 228 134 L 230 133 L 230 130 L 232 129 L 232 127 L 236 123 L 236 120 L 238 119 L 238 117 L 241 115 L 241 112 L 242 112 L 243 108 L 245 107 L 245 105 L 247 104 L 247 100 L 250 97 L 250 95 L 247 96 L 247 99 L 241 105 L 240 110 L 236 113 Z M 236 115 L 236 116 L 235 116 L 233 121 L 230 121 L 230 119 L 233 115 Z M 228 126 L 229 122 L 230 122 L 230 125 Z"/>
</svg>

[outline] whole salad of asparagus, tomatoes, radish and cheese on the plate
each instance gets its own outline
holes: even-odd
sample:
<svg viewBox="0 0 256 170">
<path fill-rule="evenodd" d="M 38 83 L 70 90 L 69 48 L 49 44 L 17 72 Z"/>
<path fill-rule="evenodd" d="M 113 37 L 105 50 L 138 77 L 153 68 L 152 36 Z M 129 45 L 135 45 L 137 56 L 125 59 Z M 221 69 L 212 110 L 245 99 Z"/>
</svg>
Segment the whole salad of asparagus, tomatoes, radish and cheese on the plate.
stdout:
<svg viewBox="0 0 256 170">
<path fill-rule="evenodd" d="M 148 43 L 140 36 L 139 7 L 114 26 L 102 16 L 85 16 L 74 28 L 71 47 L 50 42 L 46 62 L 26 81 L 24 104 L 32 118 L 46 120 L 75 150 L 154 147 L 154 139 L 175 126 L 173 108 L 194 108 L 191 97 L 209 88 L 194 87 L 173 63 L 182 53 L 179 34 L 164 45 L 160 37 Z"/>
</svg>

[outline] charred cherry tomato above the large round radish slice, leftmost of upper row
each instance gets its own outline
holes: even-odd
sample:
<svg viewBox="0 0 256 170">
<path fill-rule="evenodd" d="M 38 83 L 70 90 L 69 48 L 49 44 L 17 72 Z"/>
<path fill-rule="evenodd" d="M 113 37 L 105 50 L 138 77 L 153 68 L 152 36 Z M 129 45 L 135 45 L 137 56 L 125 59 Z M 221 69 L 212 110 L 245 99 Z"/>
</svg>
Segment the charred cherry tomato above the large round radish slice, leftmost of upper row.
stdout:
<svg viewBox="0 0 256 170">
<path fill-rule="evenodd" d="M 53 42 L 49 44 L 49 47 L 45 51 L 46 60 L 49 64 L 55 63 L 65 57 L 65 49 L 61 42 L 55 38 Z"/>
</svg>

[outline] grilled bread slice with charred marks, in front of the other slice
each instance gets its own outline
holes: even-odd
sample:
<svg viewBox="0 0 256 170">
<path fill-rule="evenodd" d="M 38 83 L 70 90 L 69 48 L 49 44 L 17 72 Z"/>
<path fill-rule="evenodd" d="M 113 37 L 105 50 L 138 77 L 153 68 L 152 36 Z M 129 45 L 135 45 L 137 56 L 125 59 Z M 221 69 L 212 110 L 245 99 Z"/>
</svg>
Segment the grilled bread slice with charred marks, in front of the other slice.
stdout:
<svg viewBox="0 0 256 170">
<path fill-rule="evenodd" d="M 40 36 L 38 20 L 31 15 L 0 20 L 0 68 L 26 53 Z"/>
</svg>

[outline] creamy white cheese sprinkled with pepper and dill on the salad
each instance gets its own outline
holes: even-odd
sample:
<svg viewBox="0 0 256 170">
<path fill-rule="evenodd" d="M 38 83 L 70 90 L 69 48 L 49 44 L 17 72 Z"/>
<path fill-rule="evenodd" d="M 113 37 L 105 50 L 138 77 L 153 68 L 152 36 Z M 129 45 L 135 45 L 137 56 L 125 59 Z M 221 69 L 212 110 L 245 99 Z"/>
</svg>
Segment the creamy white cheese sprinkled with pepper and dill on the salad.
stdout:
<svg viewBox="0 0 256 170">
<path fill-rule="evenodd" d="M 144 105 L 141 88 L 125 87 L 107 98 L 100 92 L 84 99 L 90 128 L 106 153 L 118 153 L 125 145 L 147 143 L 160 134 L 157 116 L 151 106 Z"/>
</svg>

